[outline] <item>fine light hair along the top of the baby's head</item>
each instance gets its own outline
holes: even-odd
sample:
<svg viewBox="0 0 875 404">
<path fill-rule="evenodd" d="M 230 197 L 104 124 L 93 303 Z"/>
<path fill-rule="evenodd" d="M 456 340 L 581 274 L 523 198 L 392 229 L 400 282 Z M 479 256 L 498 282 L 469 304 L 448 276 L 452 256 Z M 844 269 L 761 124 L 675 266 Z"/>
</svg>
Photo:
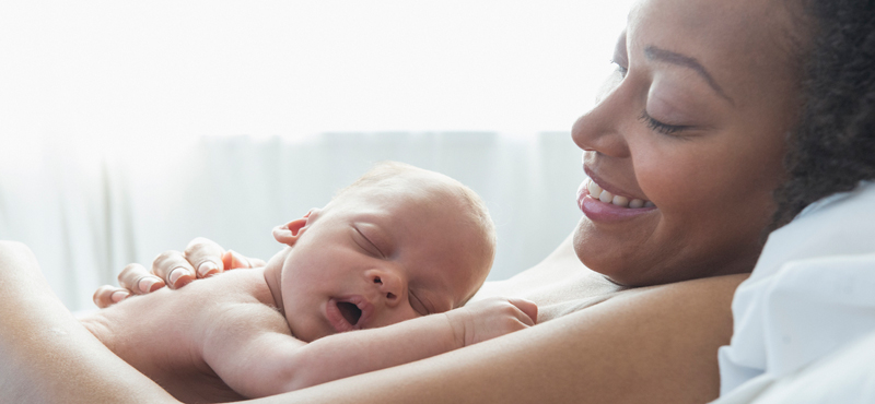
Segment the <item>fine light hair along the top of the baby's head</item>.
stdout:
<svg viewBox="0 0 875 404">
<path fill-rule="evenodd" d="M 405 163 L 398 162 L 380 162 L 374 164 L 368 173 L 363 176 L 359 177 L 354 182 L 349 185 L 348 187 L 338 191 L 334 199 L 342 197 L 343 194 L 348 193 L 349 191 L 353 191 L 361 188 L 366 187 L 378 187 L 381 182 L 385 182 L 392 180 L 393 178 L 398 177 L 404 173 L 410 171 L 428 171 L 425 169 L 411 166 Z M 431 171 L 434 173 L 434 171 Z M 488 249 L 488 253 L 490 254 L 489 262 L 491 263 L 495 257 L 495 245 L 497 245 L 497 235 L 495 235 L 495 224 L 492 222 L 492 216 L 489 215 L 489 210 L 486 207 L 486 203 L 477 192 L 474 192 L 470 188 L 466 187 L 464 183 L 450 178 L 443 174 L 434 173 L 442 177 L 444 180 L 452 185 L 452 189 L 448 189 L 454 195 L 458 197 L 464 204 L 469 207 L 467 213 L 467 218 L 471 221 L 471 223 L 476 226 L 477 229 L 481 231 L 481 236 L 486 241 L 485 246 Z"/>
</svg>

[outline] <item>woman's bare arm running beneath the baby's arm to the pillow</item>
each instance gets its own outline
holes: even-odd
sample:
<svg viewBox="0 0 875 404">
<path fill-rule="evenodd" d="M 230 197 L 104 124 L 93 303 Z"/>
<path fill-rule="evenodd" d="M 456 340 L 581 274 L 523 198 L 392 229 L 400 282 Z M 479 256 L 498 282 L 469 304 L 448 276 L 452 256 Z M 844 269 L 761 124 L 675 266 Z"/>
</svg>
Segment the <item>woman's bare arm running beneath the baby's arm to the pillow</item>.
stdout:
<svg viewBox="0 0 875 404">
<path fill-rule="evenodd" d="M 704 403 L 746 275 L 630 290 L 430 359 L 320 384 L 295 403 Z M 264 403 L 283 402 L 262 399 Z"/>
</svg>

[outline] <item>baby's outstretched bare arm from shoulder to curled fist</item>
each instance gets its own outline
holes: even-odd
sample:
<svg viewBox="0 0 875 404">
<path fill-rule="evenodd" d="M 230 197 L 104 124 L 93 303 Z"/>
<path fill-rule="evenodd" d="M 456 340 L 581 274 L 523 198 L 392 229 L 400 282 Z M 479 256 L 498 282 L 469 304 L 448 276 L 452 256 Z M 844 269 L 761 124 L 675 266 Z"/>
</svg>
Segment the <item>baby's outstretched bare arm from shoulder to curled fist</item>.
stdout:
<svg viewBox="0 0 875 404">
<path fill-rule="evenodd" d="M 537 307 L 521 299 L 486 299 L 446 313 L 334 334 L 310 344 L 291 337 L 281 317 L 254 314 L 240 310 L 235 319 L 222 319 L 203 352 L 217 375 L 249 397 L 389 368 L 500 336 L 533 325 Z"/>
</svg>

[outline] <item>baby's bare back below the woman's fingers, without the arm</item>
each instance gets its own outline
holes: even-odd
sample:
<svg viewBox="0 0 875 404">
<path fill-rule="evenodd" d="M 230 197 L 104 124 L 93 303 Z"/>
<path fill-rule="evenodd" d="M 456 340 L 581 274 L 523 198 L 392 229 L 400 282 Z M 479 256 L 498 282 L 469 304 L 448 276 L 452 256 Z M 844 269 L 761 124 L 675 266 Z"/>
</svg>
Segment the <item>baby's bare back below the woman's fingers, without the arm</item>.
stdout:
<svg viewBox="0 0 875 404">
<path fill-rule="evenodd" d="M 128 298 L 82 319 L 82 323 L 116 355 L 178 400 L 234 401 L 243 397 L 203 360 L 205 343 L 215 338 L 217 333 L 228 338 L 226 320 L 240 316 L 285 323 L 272 305 L 264 270 L 237 270 L 194 282 L 179 290 L 162 288 Z M 152 318 L 165 321 L 142 323 L 137 316 L 142 310 L 159 311 Z"/>
</svg>

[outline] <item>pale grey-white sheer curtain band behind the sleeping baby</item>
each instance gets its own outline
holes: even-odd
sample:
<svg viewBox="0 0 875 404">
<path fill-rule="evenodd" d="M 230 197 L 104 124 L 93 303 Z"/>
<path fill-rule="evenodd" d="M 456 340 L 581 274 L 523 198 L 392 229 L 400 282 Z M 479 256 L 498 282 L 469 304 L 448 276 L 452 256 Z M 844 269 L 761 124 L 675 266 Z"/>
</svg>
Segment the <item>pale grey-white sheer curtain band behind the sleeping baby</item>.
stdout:
<svg viewBox="0 0 875 404">
<path fill-rule="evenodd" d="M 581 152 L 568 133 L 324 133 L 94 147 L 19 142 L 0 151 L 0 239 L 27 243 L 72 310 L 129 262 L 194 237 L 270 258 L 270 229 L 325 205 L 378 161 L 444 173 L 486 201 L 499 233 L 490 280 L 544 259 L 578 219 Z"/>
</svg>

